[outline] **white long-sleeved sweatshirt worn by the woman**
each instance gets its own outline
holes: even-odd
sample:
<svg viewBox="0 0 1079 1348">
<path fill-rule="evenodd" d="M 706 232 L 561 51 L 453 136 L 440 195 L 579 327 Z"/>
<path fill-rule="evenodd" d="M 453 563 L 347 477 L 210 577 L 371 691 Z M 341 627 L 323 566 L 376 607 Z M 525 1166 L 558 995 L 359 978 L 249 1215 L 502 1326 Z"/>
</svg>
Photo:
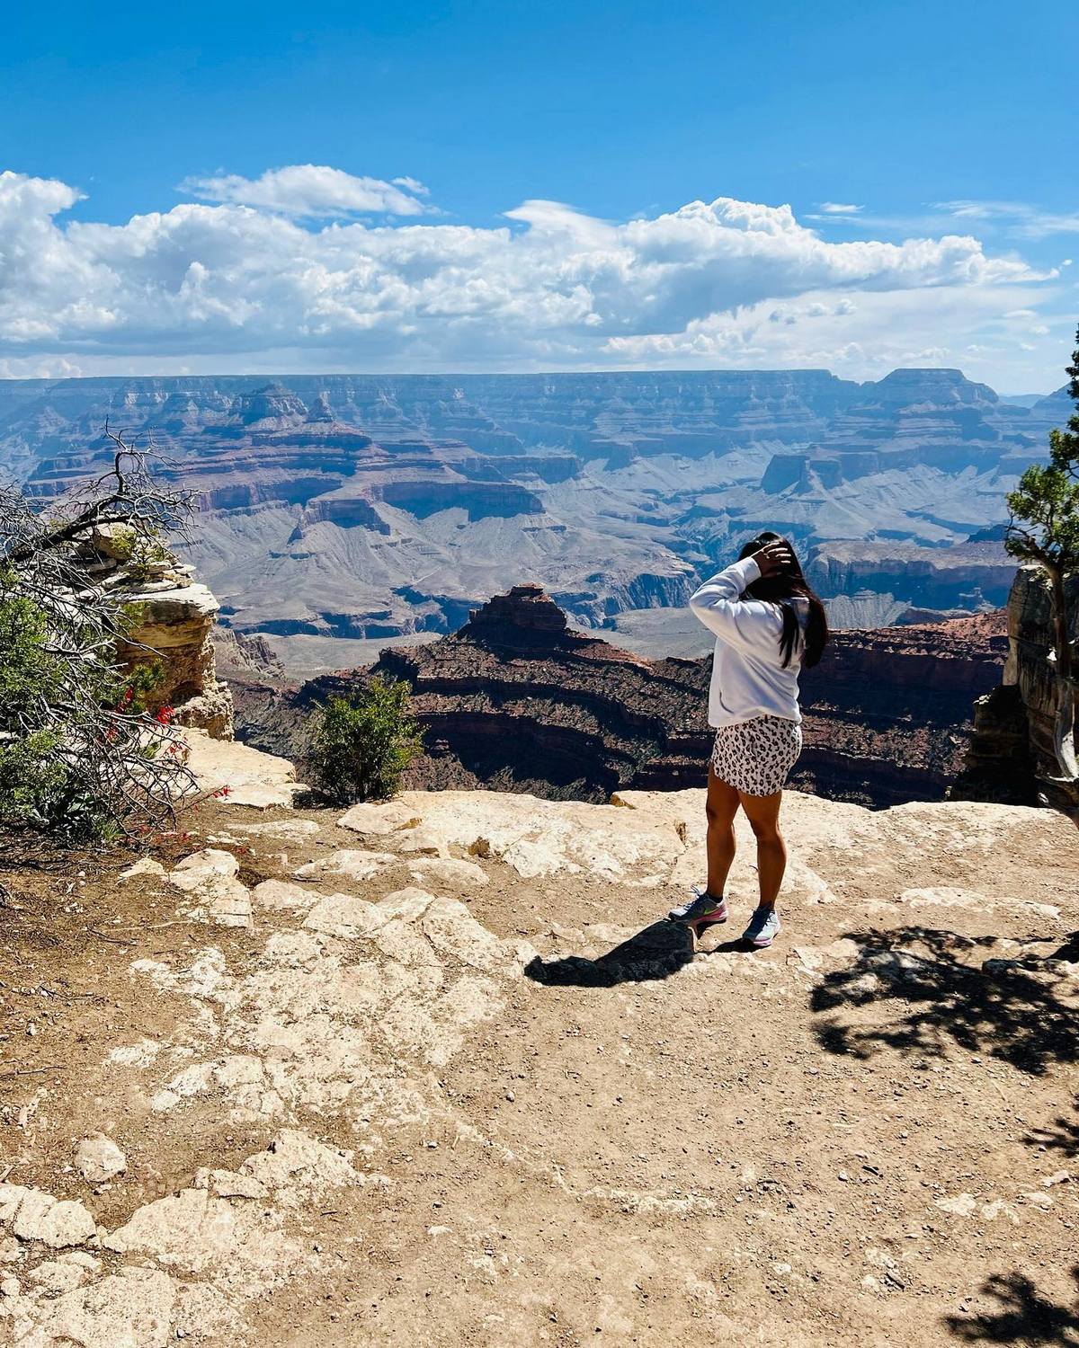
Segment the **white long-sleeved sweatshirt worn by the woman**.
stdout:
<svg viewBox="0 0 1079 1348">
<path fill-rule="evenodd" d="M 716 634 L 708 689 L 709 725 L 736 725 L 758 716 L 801 721 L 801 661 L 796 647 L 788 669 L 782 666 L 780 605 L 742 599 L 746 586 L 759 578 L 761 568 L 747 557 L 705 581 L 689 600 L 700 621 Z M 790 603 L 804 624 L 809 605 L 803 599 Z"/>
</svg>

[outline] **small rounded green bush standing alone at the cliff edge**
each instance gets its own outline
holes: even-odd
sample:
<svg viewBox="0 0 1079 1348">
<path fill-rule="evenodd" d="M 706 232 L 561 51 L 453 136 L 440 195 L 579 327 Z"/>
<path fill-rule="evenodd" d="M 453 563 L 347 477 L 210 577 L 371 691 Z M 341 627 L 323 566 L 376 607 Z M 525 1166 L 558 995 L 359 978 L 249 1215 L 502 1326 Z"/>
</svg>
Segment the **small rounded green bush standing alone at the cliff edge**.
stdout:
<svg viewBox="0 0 1079 1348">
<path fill-rule="evenodd" d="M 320 791 L 351 805 L 401 790 L 405 768 L 422 748 L 407 683 L 376 675 L 348 698 L 330 698 L 316 717 L 312 766 Z"/>
</svg>

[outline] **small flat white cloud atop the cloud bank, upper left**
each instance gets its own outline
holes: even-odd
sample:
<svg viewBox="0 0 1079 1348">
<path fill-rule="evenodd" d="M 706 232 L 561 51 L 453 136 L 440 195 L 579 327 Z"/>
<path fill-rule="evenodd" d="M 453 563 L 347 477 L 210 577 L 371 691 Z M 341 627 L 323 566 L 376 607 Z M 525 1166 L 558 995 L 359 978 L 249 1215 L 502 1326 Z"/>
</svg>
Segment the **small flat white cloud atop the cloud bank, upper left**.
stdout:
<svg viewBox="0 0 1079 1348">
<path fill-rule="evenodd" d="M 418 216 L 425 206 L 417 195 L 428 189 L 415 178 L 356 178 L 325 164 L 290 164 L 267 168 L 260 178 L 221 174 L 185 178 L 177 189 L 201 201 L 231 202 L 279 210 L 286 216 Z"/>
</svg>

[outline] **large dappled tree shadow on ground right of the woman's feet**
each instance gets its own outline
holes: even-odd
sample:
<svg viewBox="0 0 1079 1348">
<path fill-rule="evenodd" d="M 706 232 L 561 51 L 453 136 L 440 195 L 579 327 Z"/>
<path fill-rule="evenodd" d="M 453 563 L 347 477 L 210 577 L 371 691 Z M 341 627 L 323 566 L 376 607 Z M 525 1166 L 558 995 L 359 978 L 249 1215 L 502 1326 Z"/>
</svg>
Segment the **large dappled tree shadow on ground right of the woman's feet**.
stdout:
<svg viewBox="0 0 1079 1348">
<path fill-rule="evenodd" d="M 959 1045 L 1034 1076 L 1079 1061 L 1079 1006 L 1067 996 L 1074 983 L 1053 957 L 978 961 L 995 937 L 917 926 L 847 938 L 859 948 L 854 964 L 827 973 L 811 996 L 813 1011 L 834 1012 L 816 1031 L 829 1053 L 867 1058 L 893 1047 L 935 1057 Z M 883 1023 L 835 1014 L 885 1002 Z"/>
</svg>

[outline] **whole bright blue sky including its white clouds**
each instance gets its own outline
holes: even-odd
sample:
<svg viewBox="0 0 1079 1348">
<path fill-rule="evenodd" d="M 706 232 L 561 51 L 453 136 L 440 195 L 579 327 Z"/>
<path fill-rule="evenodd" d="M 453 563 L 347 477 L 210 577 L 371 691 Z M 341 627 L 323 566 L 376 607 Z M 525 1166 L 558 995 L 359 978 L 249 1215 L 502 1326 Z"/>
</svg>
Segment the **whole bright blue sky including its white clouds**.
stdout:
<svg viewBox="0 0 1079 1348">
<path fill-rule="evenodd" d="M 1079 317 L 1076 39 L 1040 0 L 22 7 L 0 372 L 1048 390 Z"/>
</svg>

